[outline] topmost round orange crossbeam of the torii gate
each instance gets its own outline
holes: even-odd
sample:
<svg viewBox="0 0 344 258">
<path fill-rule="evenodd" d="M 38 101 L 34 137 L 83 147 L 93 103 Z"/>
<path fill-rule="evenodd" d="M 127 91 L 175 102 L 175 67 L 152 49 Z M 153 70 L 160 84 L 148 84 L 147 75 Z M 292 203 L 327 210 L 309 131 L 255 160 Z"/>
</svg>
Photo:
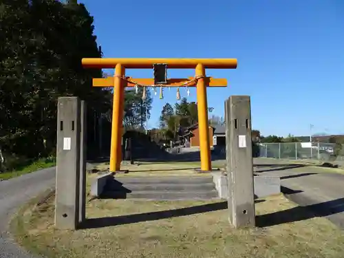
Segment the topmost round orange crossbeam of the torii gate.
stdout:
<svg viewBox="0 0 344 258">
<path fill-rule="evenodd" d="M 169 69 L 193 69 L 198 64 L 210 69 L 235 69 L 236 58 L 83 58 L 85 68 L 114 68 L 120 63 L 125 68 L 153 68 L 153 64 L 165 63 Z"/>
</svg>

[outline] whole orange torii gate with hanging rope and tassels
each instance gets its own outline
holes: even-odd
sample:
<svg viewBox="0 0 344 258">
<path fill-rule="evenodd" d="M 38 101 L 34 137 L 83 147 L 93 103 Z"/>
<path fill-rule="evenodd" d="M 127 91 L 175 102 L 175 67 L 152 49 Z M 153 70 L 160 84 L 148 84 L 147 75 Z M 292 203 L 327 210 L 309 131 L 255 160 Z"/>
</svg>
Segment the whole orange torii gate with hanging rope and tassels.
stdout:
<svg viewBox="0 0 344 258">
<path fill-rule="evenodd" d="M 145 96 L 146 87 L 160 87 L 160 98 L 162 98 L 162 87 L 196 87 L 197 88 L 197 113 L 198 128 L 200 132 L 200 156 L 201 171 L 211 171 L 211 152 L 208 131 L 208 104 L 206 99 L 206 87 L 226 87 L 227 80 L 224 78 L 206 77 L 205 69 L 235 69 L 237 59 L 235 58 L 83 58 L 85 68 L 115 68 L 114 77 L 94 78 L 94 87 L 114 87 L 114 104 L 112 110 L 111 125 L 111 153 L 110 171 L 120 171 L 122 120 L 124 109 L 125 87 L 143 87 Z M 155 78 L 130 78 L 125 76 L 125 69 L 155 69 L 164 66 L 164 81 L 157 83 Z M 166 78 L 167 69 L 195 69 L 195 77 Z M 155 71 L 155 70 L 154 70 Z"/>
</svg>

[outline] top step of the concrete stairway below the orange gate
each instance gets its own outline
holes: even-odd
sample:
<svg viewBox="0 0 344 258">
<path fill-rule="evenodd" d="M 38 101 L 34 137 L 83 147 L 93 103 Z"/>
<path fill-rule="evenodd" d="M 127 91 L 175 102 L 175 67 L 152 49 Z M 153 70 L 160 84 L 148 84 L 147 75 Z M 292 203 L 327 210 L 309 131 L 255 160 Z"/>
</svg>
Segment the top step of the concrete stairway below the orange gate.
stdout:
<svg viewBox="0 0 344 258">
<path fill-rule="evenodd" d="M 211 176 L 202 177 L 127 177 L 116 178 L 115 180 L 122 184 L 207 184 L 212 183 L 213 178 Z"/>
</svg>

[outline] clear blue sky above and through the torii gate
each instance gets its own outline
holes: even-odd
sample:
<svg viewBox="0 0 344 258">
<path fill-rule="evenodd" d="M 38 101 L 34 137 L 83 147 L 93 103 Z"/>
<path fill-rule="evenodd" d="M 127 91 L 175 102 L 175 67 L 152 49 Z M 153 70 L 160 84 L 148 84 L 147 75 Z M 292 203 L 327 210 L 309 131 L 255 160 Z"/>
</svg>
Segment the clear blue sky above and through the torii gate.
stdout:
<svg viewBox="0 0 344 258">
<path fill-rule="evenodd" d="M 237 58 L 237 69 L 208 69 L 228 87 L 208 88 L 224 115 L 230 95 L 250 95 L 252 127 L 264 135 L 344 133 L 343 0 L 83 0 L 105 57 Z M 149 69 L 128 76 L 151 78 Z M 189 69 L 169 78 L 193 76 Z M 181 89 L 182 96 L 186 91 Z M 191 89 L 189 101 L 195 101 Z M 149 127 L 175 89 L 155 96 Z"/>
</svg>

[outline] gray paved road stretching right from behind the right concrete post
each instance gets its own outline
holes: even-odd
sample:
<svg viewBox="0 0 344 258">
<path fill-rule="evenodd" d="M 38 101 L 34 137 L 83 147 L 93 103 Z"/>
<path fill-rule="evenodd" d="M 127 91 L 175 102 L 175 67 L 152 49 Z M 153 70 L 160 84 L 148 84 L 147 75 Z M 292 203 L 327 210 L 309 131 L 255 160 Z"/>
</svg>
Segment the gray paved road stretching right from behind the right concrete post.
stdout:
<svg viewBox="0 0 344 258">
<path fill-rule="evenodd" d="M 258 175 L 281 178 L 281 186 L 291 190 L 287 195 L 290 200 L 308 206 L 344 229 L 344 175 L 281 160 L 257 158 L 254 162 Z"/>
</svg>

